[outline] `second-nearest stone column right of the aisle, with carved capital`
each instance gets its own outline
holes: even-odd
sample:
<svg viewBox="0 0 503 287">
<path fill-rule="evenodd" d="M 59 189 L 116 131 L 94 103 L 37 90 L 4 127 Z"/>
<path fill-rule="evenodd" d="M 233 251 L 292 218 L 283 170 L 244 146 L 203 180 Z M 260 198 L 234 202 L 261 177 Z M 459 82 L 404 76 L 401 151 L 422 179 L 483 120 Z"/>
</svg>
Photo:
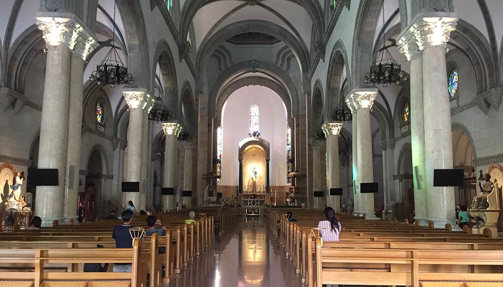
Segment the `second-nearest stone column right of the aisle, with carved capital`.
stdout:
<svg viewBox="0 0 503 287">
<path fill-rule="evenodd" d="M 376 88 L 353 89 L 346 98 L 348 107 L 356 113 L 357 125 L 357 178 L 358 184 L 374 182 L 372 159 L 372 134 L 370 130 L 370 109 L 377 95 Z M 353 120 L 355 115 L 353 115 Z M 355 196 L 356 197 L 356 196 Z M 377 219 L 374 212 L 374 194 L 358 195 L 359 210 L 367 219 Z"/>
</svg>

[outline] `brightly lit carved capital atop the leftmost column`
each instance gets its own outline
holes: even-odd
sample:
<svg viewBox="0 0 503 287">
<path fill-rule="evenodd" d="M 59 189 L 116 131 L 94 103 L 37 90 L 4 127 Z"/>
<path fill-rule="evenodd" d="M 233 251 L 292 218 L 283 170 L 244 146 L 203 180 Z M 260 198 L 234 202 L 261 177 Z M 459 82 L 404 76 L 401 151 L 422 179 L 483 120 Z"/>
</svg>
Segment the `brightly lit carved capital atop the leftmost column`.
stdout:
<svg viewBox="0 0 503 287">
<path fill-rule="evenodd" d="M 73 19 L 69 17 L 47 17 L 37 16 L 37 27 L 44 34 L 44 40 L 47 46 L 67 47 L 73 34 Z"/>
</svg>

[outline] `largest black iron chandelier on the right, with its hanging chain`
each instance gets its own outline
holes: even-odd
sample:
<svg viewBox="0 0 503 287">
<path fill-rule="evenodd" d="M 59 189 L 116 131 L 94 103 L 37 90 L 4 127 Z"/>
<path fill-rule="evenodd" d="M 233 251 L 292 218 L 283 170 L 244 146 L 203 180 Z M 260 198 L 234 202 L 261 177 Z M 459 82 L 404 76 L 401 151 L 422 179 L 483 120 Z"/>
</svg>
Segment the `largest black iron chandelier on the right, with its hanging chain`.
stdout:
<svg viewBox="0 0 503 287">
<path fill-rule="evenodd" d="M 382 2 L 382 27 L 383 29 L 385 27 L 384 0 Z M 386 87 L 389 83 L 399 84 L 400 81 L 406 80 L 407 75 L 402 71 L 400 64 L 395 61 L 388 51 L 386 40 L 383 36 L 382 48 L 379 50 L 374 64 L 370 67 L 370 72 L 365 75 L 363 82 L 371 86 L 382 84 Z"/>
</svg>

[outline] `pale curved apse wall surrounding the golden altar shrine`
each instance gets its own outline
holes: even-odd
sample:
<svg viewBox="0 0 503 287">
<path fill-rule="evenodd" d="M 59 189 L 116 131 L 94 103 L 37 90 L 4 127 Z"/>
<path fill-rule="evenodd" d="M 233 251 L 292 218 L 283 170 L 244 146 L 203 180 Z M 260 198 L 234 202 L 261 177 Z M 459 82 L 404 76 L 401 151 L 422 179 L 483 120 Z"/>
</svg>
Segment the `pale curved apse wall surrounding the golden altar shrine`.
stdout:
<svg viewBox="0 0 503 287">
<path fill-rule="evenodd" d="M 255 108 L 258 108 L 258 110 Z M 250 118 L 250 108 L 254 117 Z M 258 111 L 258 114 L 255 112 Z M 257 121 L 258 115 L 258 121 Z M 250 121 L 252 127 L 250 129 Z M 245 86 L 234 91 L 225 102 L 221 127 L 221 180 L 219 185 L 237 188 L 239 180 L 239 142 L 248 138 L 251 130 L 269 143 L 271 188 L 287 185 L 287 112 L 279 95 L 268 87 Z M 253 155 L 251 155 L 253 156 Z M 259 168 L 258 172 L 265 172 Z M 253 167 L 250 167 L 253 170 Z M 257 174 L 266 178 L 265 174 Z"/>
</svg>

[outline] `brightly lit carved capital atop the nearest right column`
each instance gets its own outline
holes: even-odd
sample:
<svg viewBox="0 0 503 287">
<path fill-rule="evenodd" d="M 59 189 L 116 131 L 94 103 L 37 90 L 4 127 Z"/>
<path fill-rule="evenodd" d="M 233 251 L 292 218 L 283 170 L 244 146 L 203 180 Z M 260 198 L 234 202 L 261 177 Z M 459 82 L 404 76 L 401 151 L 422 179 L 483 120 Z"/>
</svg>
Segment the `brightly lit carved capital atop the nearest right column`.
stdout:
<svg viewBox="0 0 503 287">
<path fill-rule="evenodd" d="M 451 32 L 456 30 L 458 19 L 456 13 L 421 13 L 415 17 L 409 29 L 421 51 L 436 46 L 445 48 Z"/>
</svg>

